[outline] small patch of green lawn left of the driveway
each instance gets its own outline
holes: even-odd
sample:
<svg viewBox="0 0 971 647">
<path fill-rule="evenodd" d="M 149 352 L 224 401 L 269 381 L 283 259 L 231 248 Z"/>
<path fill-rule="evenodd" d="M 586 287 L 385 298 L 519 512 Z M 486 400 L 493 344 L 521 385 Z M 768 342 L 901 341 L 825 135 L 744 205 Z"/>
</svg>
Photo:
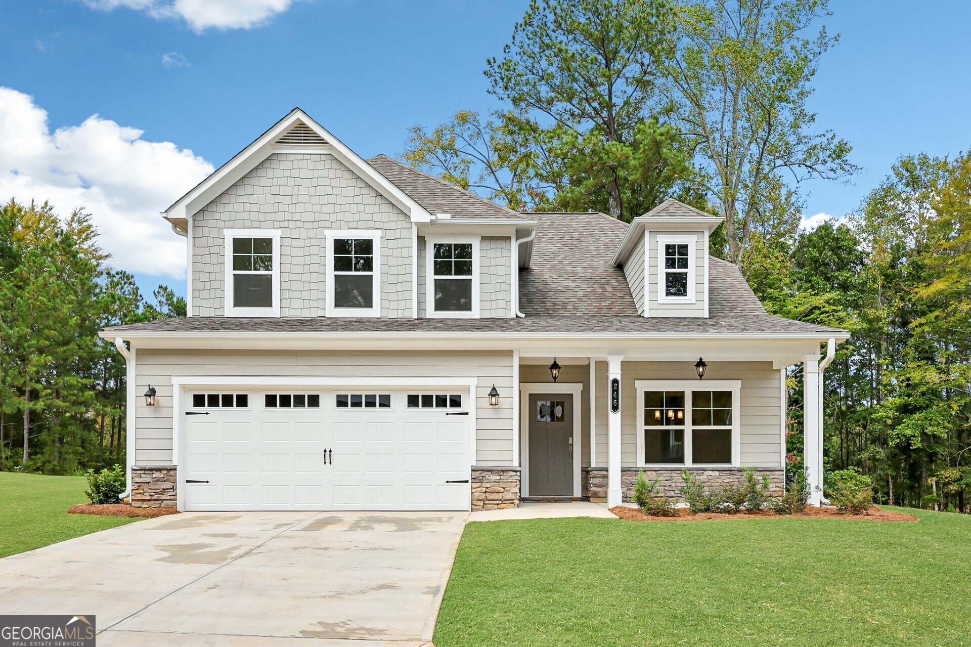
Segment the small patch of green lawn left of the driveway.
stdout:
<svg viewBox="0 0 971 647">
<path fill-rule="evenodd" d="M 75 503 L 87 503 L 86 489 L 82 476 L 0 472 L 0 558 L 139 521 L 67 514 Z"/>
</svg>

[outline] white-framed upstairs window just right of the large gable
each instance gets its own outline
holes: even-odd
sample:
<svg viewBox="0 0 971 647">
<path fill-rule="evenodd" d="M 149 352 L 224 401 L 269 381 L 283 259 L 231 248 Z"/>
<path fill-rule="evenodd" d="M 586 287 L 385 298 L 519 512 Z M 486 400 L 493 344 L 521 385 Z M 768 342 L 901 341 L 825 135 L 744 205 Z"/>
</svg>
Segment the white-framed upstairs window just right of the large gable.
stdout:
<svg viewBox="0 0 971 647">
<path fill-rule="evenodd" d="M 429 317 L 479 317 L 479 238 L 428 239 Z"/>
</svg>

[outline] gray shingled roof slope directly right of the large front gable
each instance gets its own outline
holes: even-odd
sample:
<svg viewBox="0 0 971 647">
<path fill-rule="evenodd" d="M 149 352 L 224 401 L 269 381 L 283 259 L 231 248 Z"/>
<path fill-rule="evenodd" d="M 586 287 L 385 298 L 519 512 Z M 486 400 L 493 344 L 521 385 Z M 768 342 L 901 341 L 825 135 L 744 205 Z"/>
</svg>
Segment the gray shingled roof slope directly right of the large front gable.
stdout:
<svg viewBox="0 0 971 647">
<path fill-rule="evenodd" d="M 471 191 L 455 187 L 444 180 L 422 173 L 387 155 L 375 155 L 367 160 L 396 187 L 414 198 L 430 214 L 449 214 L 452 220 L 522 221 L 519 212 L 501 207 Z"/>
</svg>

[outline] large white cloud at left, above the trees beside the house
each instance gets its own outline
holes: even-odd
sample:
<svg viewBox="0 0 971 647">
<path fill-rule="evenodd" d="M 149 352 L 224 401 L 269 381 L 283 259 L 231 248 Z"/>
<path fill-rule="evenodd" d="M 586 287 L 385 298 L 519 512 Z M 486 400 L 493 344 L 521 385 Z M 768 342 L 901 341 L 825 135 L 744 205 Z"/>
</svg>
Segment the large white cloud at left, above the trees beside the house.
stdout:
<svg viewBox="0 0 971 647">
<path fill-rule="evenodd" d="M 33 97 L 0 87 L 0 201 L 49 200 L 58 215 L 90 212 L 111 263 L 131 272 L 183 278 L 185 239 L 159 212 L 213 172 L 171 142 L 97 115 L 50 132 Z"/>
</svg>

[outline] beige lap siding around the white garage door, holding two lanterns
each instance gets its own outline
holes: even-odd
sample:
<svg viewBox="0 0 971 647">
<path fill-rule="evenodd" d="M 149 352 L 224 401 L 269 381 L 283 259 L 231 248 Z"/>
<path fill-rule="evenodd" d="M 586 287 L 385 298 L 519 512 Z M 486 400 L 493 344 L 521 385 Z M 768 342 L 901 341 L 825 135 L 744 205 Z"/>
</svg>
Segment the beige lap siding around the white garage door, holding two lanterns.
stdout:
<svg viewBox="0 0 971 647">
<path fill-rule="evenodd" d="M 478 464 L 508 465 L 513 460 L 513 398 L 488 404 L 495 384 L 504 395 L 513 390 L 512 354 L 354 352 L 162 351 L 136 352 L 136 392 L 151 384 L 157 404 L 136 408 L 136 464 L 172 463 L 173 376 L 229 377 L 474 377 L 476 390 L 476 457 Z"/>
</svg>

